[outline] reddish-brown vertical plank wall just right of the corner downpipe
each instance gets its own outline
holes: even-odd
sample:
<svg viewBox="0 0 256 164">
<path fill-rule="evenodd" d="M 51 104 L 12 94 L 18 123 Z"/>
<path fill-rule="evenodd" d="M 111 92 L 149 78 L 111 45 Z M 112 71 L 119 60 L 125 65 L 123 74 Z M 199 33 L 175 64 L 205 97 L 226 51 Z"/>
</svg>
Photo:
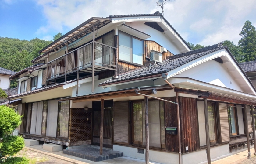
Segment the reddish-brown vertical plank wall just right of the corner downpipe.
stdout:
<svg viewBox="0 0 256 164">
<path fill-rule="evenodd" d="M 197 99 L 180 97 L 181 153 L 200 149 Z M 186 147 L 188 150 L 186 151 Z"/>
</svg>

